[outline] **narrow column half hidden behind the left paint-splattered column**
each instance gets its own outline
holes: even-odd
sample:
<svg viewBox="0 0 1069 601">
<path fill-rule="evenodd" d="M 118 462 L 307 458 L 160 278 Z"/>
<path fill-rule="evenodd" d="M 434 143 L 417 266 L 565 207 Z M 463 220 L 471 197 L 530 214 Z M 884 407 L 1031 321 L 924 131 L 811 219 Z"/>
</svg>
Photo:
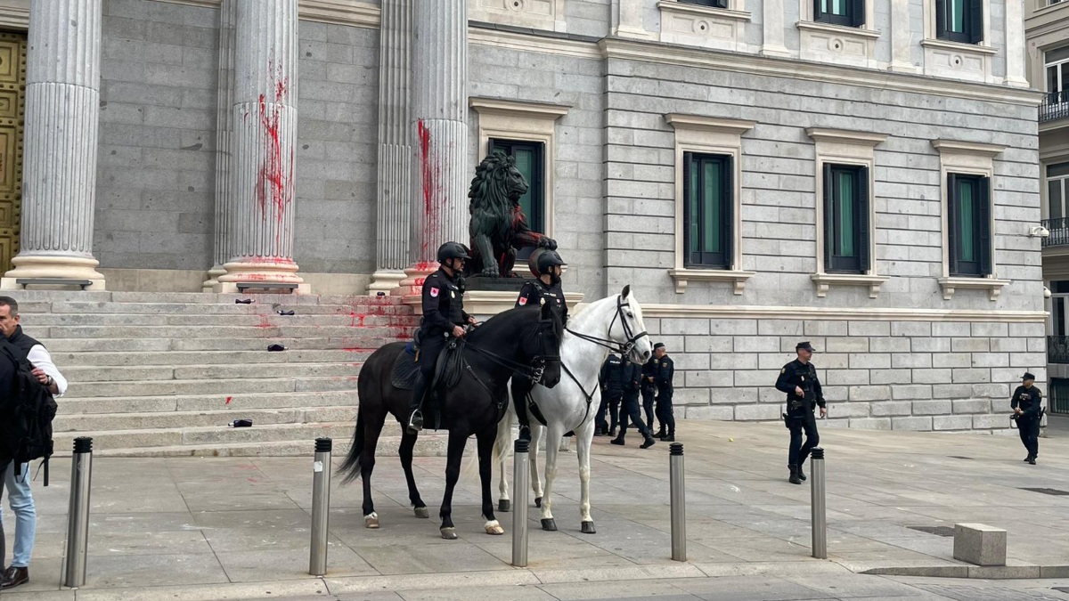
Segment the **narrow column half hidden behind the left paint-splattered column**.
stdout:
<svg viewBox="0 0 1069 601">
<path fill-rule="evenodd" d="M 234 154 L 234 21 L 237 18 L 237 0 L 222 0 L 219 6 L 219 83 L 215 134 L 215 262 L 203 284 L 204 292 L 212 292 L 219 283 L 219 276 L 227 273 L 223 263 L 230 259 L 229 228 L 233 199 L 230 165 Z"/>
</svg>

